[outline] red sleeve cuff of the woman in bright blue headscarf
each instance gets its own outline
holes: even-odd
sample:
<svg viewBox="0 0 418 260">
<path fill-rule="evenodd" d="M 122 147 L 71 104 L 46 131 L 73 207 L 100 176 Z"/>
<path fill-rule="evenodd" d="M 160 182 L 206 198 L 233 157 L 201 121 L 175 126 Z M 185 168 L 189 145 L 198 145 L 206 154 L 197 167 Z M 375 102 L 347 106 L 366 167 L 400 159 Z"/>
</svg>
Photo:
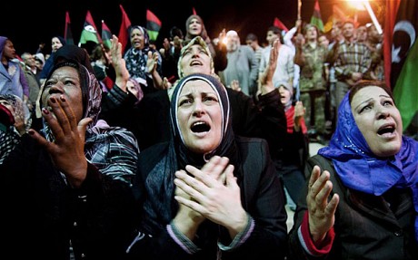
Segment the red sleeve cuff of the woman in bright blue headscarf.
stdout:
<svg viewBox="0 0 418 260">
<path fill-rule="evenodd" d="M 299 237 L 301 245 L 304 247 L 304 250 L 309 255 L 321 256 L 329 254 L 333 246 L 333 239 L 335 237 L 333 227 L 328 231 L 323 241 L 318 245 L 315 245 L 309 233 L 308 217 L 309 213 L 308 211 L 306 211 L 304 214 L 304 220 L 302 221 L 302 225 L 299 226 L 299 228 L 297 229 L 297 236 Z"/>
</svg>

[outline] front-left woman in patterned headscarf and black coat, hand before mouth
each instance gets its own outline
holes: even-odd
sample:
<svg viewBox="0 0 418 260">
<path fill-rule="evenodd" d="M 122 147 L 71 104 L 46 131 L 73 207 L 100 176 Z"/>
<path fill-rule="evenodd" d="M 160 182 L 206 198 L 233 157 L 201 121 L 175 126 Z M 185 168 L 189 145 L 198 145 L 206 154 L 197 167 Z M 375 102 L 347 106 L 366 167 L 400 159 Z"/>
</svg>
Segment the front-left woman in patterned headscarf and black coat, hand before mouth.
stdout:
<svg viewBox="0 0 418 260">
<path fill-rule="evenodd" d="M 43 130 L 29 130 L 0 165 L 11 227 L 2 246 L 16 258 L 70 259 L 73 248 L 75 259 L 123 259 L 139 150 L 131 132 L 97 120 L 101 96 L 84 65 L 56 63 L 41 96 Z"/>
</svg>

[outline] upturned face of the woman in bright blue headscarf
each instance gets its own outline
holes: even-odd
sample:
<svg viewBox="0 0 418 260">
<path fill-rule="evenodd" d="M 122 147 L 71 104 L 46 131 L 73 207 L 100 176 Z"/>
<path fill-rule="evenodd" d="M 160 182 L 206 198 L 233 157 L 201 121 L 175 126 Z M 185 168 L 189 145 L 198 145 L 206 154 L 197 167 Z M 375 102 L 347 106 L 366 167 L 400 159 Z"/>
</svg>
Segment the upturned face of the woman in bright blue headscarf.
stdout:
<svg viewBox="0 0 418 260">
<path fill-rule="evenodd" d="M 386 91 L 365 87 L 355 93 L 351 107 L 355 123 L 374 155 L 389 157 L 401 149 L 401 114 Z"/>
</svg>

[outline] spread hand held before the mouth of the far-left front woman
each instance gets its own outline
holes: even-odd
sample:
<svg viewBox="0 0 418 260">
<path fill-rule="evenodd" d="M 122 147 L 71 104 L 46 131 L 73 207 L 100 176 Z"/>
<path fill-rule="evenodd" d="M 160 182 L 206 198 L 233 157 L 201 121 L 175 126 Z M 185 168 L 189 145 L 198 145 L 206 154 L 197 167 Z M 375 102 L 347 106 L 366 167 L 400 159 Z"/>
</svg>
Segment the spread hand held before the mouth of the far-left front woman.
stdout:
<svg viewBox="0 0 418 260">
<path fill-rule="evenodd" d="M 51 96 L 48 100 L 50 110 L 44 108 L 42 115 L 52 130 L 55 141 L 45 140 L 35 130 L 29 130 L 29 134 L 51 156 L 55 168 L 65 174 L 69 183 L 78 188 L 85 180 L 87 173 L 87 159 L 85 159 L 85 130 L 89 118 L 75 119 L 75 113 L 65 101 L 64 95 L 59 98 Z"/>
</svg>

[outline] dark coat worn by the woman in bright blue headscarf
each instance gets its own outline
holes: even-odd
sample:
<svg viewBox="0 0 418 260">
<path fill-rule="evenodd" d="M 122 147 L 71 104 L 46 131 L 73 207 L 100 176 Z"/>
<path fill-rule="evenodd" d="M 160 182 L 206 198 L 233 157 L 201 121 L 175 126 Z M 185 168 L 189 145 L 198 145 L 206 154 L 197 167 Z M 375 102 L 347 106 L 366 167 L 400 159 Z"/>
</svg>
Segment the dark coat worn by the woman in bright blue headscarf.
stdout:
<svg viewBox="0 0 418 260">
<path fill-rule="evenodd" d="M 345 188 L 336 175 L 331 160 L 315 155 L 308 159 L 306 176 L 315 164 L 330 171 L 333 192 L 340 196 L 335 213 L 335 239 L 325 259 L 418 259 L 414 236 L 415 211 L 410 189 L 390 189 L 383 196 L 373 196 Z M 382 173 L 384 174 L 384 173 Z M 294 214 L 290 233 L 289 259 L 323 259 L 306 254 L 297 229 L 307 210 L 307 184 Z M 328 257 L 325 257 L 328 256 Z"/>
</svg>

